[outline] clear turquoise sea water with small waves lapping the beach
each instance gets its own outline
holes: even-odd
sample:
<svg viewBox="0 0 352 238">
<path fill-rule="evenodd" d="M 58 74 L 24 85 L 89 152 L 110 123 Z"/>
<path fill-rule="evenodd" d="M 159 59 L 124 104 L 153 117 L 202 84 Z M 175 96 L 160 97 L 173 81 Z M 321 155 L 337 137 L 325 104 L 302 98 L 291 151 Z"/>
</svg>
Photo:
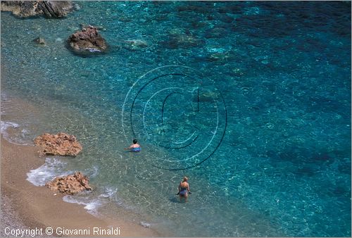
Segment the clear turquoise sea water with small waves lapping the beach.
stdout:
<svg viewBox="0 0 352 238">
<path fill-rule="evenodd" d="M 84 147 L 37 184 L 82 170 L 96 189 L 66 201 L 176 236 L 351 236 L 350 3 L 79 4 L 62 20 L 1 14 L 1 130 Z M 106 29 L 111 51 L 70 53 L 80 23 Z M 182 66 L 151 71 L 164 65 Z M 140 154 L 123 151 L 133 133 Z M 173 195 L 184 175 L 186 204 Z"/>
</svg>

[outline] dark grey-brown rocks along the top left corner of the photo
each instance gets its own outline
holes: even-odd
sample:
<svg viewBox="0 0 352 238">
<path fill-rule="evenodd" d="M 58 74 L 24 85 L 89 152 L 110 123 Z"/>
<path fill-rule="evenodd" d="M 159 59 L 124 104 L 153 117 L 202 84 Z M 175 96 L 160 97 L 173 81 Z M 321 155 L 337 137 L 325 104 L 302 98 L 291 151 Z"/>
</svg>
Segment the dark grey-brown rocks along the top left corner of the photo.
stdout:
<svg viewBox="0 0 352 238">
<path fill-rule="evenodd" d="M 1 11 L 26 18 L 44 15 L 46 18 L 63 18 L 73 11 L 71 1 L 1 1 Z"/>
</svg>

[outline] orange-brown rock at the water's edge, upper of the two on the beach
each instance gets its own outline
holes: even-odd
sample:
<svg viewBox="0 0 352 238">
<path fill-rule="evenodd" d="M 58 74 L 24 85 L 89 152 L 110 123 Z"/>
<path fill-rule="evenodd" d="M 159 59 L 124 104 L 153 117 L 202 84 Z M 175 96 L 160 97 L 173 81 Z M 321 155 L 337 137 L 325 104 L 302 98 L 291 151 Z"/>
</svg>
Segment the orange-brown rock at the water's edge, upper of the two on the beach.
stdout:
<svg viewBox="0 0 352 238">
<path fill-rule="evenodd" d="M 34 139 L 34 144 L 41 146 L 40 154 L 59 155 L 59 156 L 76 156 L 82 151 L 82 146 L 75 136 L 65 133 L 42 134 Z"/>
</svg>

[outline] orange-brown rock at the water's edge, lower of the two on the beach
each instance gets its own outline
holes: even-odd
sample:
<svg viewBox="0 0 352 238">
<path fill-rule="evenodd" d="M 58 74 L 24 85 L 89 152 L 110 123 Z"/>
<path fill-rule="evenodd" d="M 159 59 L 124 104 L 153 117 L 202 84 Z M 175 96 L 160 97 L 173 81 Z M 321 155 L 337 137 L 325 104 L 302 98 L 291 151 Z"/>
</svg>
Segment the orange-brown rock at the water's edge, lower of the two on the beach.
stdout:
<svg viewBox="0 0 352 238">
<path fill-rule="evenodd" d="M 76 172 L 73 175 L 56 177 L 53 181 L 47 182 L 45 186 L 49 187 L 51 191 L 72 195 L 84 190 L 92 190 L 92 187 L 89 186 L 88 182 L 89 179 L 87 176 L 82 175 L 80 172 Z"/>
</svg>

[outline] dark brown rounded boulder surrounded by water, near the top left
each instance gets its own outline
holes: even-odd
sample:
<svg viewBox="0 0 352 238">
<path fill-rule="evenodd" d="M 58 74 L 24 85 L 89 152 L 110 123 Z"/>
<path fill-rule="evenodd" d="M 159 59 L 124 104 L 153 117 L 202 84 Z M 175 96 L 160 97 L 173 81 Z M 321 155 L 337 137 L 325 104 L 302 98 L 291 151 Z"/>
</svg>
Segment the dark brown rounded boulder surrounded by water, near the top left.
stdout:
<svg viewBox="0 0 352 238">
<path fill-rule="evenodd" d="M 105 39 L 98 33 L 96 27 L 88 25 L 81 31 L 68 37 L 70 49 L 76 53 L 101 53 L 108 49 Z"/>
</svg>

